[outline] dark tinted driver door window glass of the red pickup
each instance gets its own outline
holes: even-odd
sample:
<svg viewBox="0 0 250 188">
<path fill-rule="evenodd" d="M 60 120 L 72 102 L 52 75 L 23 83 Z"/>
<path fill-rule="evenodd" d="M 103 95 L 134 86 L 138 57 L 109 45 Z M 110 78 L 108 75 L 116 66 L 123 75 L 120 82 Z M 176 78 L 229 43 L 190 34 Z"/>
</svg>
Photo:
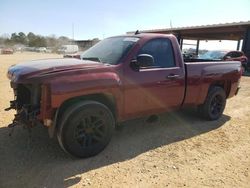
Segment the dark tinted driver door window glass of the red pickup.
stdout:
<svg viewBox="0 0 250 188">
<path fill-rule="evenodd" d="M 153 67 L 174 67 L 174 54 L 171 41 L 168 39 L 153 39 L 147 42 L 139 51 L 139 54 L 149 54 L 154 58 Z M 152 67 L 145 67 L 152 68 Z"/>
</svg>

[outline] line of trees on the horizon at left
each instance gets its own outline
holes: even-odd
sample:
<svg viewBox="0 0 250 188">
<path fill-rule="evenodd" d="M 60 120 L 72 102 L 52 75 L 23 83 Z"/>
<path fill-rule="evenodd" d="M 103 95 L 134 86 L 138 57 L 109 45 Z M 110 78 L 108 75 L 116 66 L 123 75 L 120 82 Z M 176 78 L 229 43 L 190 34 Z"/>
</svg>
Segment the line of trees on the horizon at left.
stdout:
<svg viewBox="0 0 250 188">
<path fill-rule="evenodd" d="M 56 47 L 62 44 L 67 44 L 70 39 L 65 36 L 56 37 L 36 35 L 29 32 L 27 35 L 24 32 L 12 33 L 10 37 L 0 37 L 0 44 L 4 46 L 14 46 L 16 44 L 29 47 Z"/>
</svg>

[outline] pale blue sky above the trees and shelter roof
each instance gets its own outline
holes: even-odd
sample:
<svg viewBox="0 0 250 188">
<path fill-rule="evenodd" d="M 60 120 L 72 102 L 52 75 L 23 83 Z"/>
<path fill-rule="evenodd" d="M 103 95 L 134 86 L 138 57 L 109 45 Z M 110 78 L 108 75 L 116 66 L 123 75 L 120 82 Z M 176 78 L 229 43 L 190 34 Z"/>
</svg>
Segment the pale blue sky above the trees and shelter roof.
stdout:
<svg viewBox="0 0 250 188">
<path fill-rule="evenodd" d="M 248 21 L 249 8 L 250 0 L 0 0 L 0 35 L 103 39 L 169 28 L 170 22 L 184 27 Z"/>
</svg>

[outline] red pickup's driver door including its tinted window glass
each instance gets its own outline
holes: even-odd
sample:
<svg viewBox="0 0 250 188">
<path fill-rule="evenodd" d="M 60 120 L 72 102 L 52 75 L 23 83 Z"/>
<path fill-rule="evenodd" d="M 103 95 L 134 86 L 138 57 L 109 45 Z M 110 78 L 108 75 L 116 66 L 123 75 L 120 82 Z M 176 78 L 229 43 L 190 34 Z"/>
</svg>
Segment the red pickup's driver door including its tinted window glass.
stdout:
<svg viewBox="0 0 250 188">
<path fill-rule="evenodd" d="M 179 107 L 184 95 L 184 75 L 176 66 L 171 41 L 157 38 L 148 41 L 137 53 L 149 54 L 154 65 L 130 69 L 124 88 L 125 116 L 150 115 Z"/>
</svg>

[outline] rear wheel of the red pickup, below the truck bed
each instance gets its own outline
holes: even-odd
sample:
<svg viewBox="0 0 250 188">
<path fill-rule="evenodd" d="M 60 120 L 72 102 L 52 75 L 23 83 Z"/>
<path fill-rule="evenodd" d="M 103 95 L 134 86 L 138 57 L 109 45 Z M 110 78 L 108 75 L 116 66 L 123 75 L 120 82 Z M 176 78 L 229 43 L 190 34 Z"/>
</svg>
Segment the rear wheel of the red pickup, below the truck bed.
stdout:
<svg viewBox="0 0 250 188">
<path fill-rule="evenodd" d="M 208 91 L 205 102 L 198 107 L 201 117 L 207 120 L 219 119 L 226 106 L 226 94 L 223 88 L 214 86 Z"/>
</svg>

